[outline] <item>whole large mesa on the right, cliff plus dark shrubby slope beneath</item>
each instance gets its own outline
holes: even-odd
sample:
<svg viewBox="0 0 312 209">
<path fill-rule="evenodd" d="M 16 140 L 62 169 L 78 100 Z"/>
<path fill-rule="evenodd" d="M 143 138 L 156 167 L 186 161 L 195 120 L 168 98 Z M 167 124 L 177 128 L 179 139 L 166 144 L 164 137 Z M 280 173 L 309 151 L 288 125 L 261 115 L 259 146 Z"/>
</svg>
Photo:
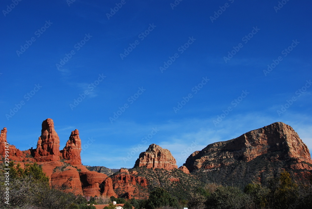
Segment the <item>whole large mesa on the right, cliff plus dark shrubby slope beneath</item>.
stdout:
<svg viewBox="0 0 312 209">
<path fill-rule="evenodd" d="M 300 179 L 305 176 L 302 170 L 312 170 L 312 161 L 298 134 L 290 126 L 275 122 L 235 139 L 212 143 L 191 154 L 184 166 L 220 182 L 231 178 L 243 182 L 247 178 L 264 180 L 279 169 L 291 171 Z"/>
</svg>

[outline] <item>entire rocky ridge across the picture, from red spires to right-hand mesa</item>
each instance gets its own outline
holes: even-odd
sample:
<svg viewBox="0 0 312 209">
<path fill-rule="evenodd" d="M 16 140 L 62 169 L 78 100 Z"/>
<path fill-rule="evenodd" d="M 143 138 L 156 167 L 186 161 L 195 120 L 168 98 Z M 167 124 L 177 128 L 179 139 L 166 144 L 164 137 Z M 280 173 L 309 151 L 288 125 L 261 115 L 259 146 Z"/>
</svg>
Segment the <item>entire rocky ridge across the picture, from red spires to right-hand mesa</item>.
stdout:
<svg viewBox="0 0 312 209">
<path fill-rule="evenodd" d="M 0 155 L 5 154 L 7 129 L 0 135 Z M 89 171 L 81 164 L 79 131 L 71 132 L 66 146 L 59 150 L 60 139 L 52 119 L 42 122 L 37 148 L 20 151 L 9 145 L 11 160 L 37 162 L 51 179 L 51 186 L 67 188 L 68 192 L 98 197 L 148 197 L 156 187 L 164 187 L 178 198 L 189 195 L 192 188 L 203 182 L 224 185 L 246 185 L 264 182 L 267 177 L 289 171 L 300 181 L 312 171 L 312 160 L 307 146 L 288 125 L 276 122 L 247 132 L 225 142 L 209 144 L 191 154 L 183 166 L 177 167 L 169 150 L 151 144 L 140 153 L 134 168 L 111 169 L 94 167 Z M 88 167 L 91 169 L 91 167 Z M 96 172 L 97 171 L 97 172 Z M 109 172 L 104 174 L 101 172 Z M 110 177 L 108 177 L 110 175 Z"/>
</svg>

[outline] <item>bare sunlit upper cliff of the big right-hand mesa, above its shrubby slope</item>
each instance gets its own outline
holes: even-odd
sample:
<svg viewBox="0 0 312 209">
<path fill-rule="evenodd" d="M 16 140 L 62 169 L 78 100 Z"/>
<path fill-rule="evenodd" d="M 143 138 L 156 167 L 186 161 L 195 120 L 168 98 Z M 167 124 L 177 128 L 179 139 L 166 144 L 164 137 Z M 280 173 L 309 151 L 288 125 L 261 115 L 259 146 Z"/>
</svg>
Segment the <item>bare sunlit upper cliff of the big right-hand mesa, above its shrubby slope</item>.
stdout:
<svg viewBox="0 0 312 209">
<path fill-rule="evenodd" d="M 209 144 L 191 154 L 183 165 L 190 172 L 200 168 L 215 169 L 231 165 L 235 160 L 249 162 L 264 154 L 270 161 L 289 158 L 297 163 L 291 166 L 296 169 L 310 169 L 306 163 L 300 162 L 312 164 L 308 147 L 294 129 L 285 123 L 275 122 L 235 139 Z"/>
</svg>

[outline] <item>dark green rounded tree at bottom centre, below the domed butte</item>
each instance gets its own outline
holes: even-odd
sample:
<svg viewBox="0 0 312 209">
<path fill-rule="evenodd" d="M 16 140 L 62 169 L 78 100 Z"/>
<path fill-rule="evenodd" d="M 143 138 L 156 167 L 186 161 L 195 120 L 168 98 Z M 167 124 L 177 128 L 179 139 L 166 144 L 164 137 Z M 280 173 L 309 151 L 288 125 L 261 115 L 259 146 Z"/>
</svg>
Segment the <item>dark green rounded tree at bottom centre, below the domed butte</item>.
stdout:
<svg viewBox="0 0 312 209">
<path fill-rule="evenodd" d="M 149 194 L 147 208 L 155 209 L 162 206 L 178 207 L 178 200 L 171 197 L 170 194 L 163 188 L 156 188 Z"/>
</svg>

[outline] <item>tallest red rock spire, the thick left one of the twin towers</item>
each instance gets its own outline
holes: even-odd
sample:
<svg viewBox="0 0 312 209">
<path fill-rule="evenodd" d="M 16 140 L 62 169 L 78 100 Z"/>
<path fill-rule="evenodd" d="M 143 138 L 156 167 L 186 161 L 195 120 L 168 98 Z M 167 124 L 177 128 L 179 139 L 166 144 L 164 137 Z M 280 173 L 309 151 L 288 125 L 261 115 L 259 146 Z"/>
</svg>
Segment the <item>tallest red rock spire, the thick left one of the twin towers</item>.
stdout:
<svg viewBox="0 0 312 209">
<path fill-rule="evenodd" d="M 41 136 L 33 155 L 37 162 L 60 160 L 60 138 L 54 130 L 51 118 L 42 122 Z"/>
</svg>

